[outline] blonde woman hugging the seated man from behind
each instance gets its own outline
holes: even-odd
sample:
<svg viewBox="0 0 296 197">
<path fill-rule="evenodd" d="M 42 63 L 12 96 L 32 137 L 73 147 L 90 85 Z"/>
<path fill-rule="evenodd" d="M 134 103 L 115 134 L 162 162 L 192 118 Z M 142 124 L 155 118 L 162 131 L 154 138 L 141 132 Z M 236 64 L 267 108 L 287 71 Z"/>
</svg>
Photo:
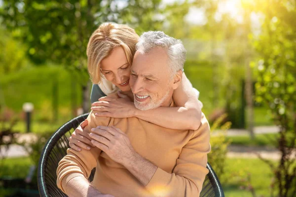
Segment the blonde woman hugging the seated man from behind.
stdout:
<svg viewBox="0 0 296 197">
<path fill-rule="evenodd" d="M 96 116 L 112 118 L 137 117 L 153 124 L 176 130 L 197 130 L 201 120 L 199 92 L 192 88 L 183 73 L 182 85 L 173 94 L 178 107 L 157 107 L 139 110 L 133 103 L 129 86 L 130 68 L 139 35 L 126 25 L 104 23 L 91 35 L 87 45 L 88 72 L 93 83 L 91 109 Z M 160 70 L 161 71 L 161 70 Z M 153 79 L 147 79 L 153 83 Z M 76 151 L 90 149 L 84 121 L 70 137 Z"/>
</svg>

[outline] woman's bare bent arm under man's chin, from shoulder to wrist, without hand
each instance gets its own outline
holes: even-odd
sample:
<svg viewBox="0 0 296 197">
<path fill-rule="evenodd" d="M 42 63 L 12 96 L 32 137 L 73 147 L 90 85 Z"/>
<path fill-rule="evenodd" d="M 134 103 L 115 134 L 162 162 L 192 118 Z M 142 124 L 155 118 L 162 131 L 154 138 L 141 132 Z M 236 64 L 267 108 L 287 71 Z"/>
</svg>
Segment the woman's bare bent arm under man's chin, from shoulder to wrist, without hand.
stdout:
<svg viewBox="0 0 296 197">
<path fill-rule="evenodd" d="M 200 101 L 184 73 L 173 99 L 180 107 L 158 107 L 146 111 L 137 109 L 135 116 L 169 129 L 197 130 L 201 120 Z"/>
</svg>

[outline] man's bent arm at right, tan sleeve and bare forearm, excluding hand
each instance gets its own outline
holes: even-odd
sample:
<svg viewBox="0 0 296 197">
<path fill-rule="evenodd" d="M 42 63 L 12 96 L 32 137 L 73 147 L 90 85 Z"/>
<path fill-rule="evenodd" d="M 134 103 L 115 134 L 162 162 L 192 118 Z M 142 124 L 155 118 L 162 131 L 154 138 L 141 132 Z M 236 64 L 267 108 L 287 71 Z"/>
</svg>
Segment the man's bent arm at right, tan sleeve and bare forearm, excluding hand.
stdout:
<svg viewBox="0 0 296 197">
<path fill-rule="evenodd" d="M 209 123 L 204 114 L 202 116 L 200 128 L 183 147 L 173 173 L 162 170 L 137 153 L 132 160 L 124 162 L 125 167 L 155 196 L 164 192 L 168 197 L 199 196 L 209 172 L 207 154 L 211 151 Z"/>
</svg>

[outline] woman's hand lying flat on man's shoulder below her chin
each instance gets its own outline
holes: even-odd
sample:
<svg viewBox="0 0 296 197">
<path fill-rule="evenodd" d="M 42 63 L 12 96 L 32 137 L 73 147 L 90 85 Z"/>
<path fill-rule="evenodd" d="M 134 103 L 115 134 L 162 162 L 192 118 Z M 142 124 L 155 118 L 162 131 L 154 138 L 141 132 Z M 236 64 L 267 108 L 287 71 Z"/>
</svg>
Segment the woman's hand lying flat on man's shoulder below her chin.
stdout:
<svg viewBox="0 0 296 197">
<path fill-rule="evenodd" d="M 109 96 L 102 97 L 98 102 L 92 103 L 91 109 L 96 116 L 104 116 L 111 118 L 129 118 L 135 116 L 137 108 L 126 95 L 118 92 L 118 97 L 111 98 Z"/>
</svg>

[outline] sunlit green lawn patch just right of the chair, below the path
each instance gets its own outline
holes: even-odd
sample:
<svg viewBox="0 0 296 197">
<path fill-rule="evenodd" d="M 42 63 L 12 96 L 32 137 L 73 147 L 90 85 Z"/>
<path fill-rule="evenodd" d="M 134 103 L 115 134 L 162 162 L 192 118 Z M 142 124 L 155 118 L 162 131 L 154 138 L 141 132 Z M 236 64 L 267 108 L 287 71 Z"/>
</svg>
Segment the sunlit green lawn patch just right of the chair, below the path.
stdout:
<svg viewBox="0 0 296 197">
<path fill-rule="evenodd" d="M 225 175 L 221 180 L 225 197 L 252 197 L 251 192 L 239 189 L 240 186 L 247 185 L 242 179 L 247 178 L 248 173 L 256 195 L 270 196 L 272 173 L 267 164 L 259 159 L 237 158 L 227 158 L 225 164 Z"/>
</svg>

